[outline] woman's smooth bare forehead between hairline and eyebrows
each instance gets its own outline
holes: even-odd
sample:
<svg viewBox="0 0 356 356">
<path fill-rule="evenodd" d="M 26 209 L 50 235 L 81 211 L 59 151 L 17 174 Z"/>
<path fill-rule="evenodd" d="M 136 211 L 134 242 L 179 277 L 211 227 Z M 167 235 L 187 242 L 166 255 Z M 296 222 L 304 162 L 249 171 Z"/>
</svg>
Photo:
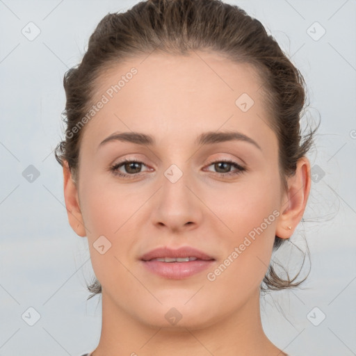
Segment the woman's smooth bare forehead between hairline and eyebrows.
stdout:
<svg viewBox="0 0 356 356">
<path fill-rule="evenodd" d="M 215 52 L 130 58 L 97 79 L 92 102 L 105 97 L 106 103 L 88 122 L 85 136 L 97 145 L 114 131 L 144 131 L 158 138 L 174 133 L 186 140 L 189 134 L 193 140 L 202 131 L 221 128 L 266 140 L 270 129 L 261 83 L 252 65 Z"/>
</svg>

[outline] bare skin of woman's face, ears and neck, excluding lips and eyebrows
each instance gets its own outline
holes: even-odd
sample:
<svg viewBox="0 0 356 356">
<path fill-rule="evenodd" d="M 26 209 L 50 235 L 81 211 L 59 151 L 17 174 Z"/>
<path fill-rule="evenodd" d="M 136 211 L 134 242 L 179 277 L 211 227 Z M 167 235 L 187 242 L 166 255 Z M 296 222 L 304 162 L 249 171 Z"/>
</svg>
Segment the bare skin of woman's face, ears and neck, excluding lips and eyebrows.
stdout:
<svg viewBox="0 0 356 356">
<path fill-rule="evenodd" d="M 138 70 L 83 129 L 76 184 L 63 167 L 68 219 L 76 234 L 87 236 L 102 284 L 102 334 L 93 355 L 286 355 L 264 333 L 259 287 L 275 235 L 289 238 L 302 218 L 311 184 L 309 161 L 298 161 L 296 175 L 282 191 L 277 137 L 266 124 L 261 81 L 250 65 L 207 51 L 146 57 L 120 63 L 97 81 L 99 99 L 131 67 Z M 245 113 L 235 104 L 243 92 L 254 100 Z M 237 140 L 194 142 L 202 132 L 229 130 L 244 133 L 261 149 Z M 117 131 L 150 134 L 156 145 L 115 141 L 98 149 Z M 124 158 L 144 163 L 134 179 L 108 170 Z M 248 170 L 224 177 L 222 172 L 236 168 L 209 163 L 221 159 Z M 183 173 L 175 183 L 164 175 L 172 164 Z M 135 172 L 126 168 L 120 172 Z M 207 273 L 275 210 L 280 215 L 209 281 Z M 104 254 L 93 247 L 102 235 L 111 242 Z M 214 267 L 168 280 L 139 261 L 156 247 L 186 245 L 215 258 Z M 182 316 L 175 325 L 165 319 L 172 307 Z"/>
</svg>

